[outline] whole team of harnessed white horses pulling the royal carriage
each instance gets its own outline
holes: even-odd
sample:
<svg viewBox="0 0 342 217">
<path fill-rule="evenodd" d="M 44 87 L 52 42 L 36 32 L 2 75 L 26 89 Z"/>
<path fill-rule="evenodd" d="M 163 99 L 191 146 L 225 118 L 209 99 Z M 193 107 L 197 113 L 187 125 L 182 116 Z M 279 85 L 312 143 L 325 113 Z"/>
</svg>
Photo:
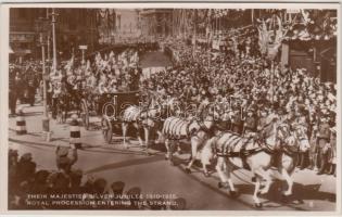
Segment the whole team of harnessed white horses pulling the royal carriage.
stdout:
<svg viewBox="0 0 342 217">
<path fill-rule="evenodd" d="M 165 158 L 173 162 L 175 144 L 181 139 L 190 140 L 191 157 L 186 167 L 191 167 L 197 158 L 201 159 L 203 173 L 208 176 L 207 166 L 216 163 L 216 171 L 220 179 L 219 188 L 229 189 L 231 196 L 238 195 L 231 179 L 236 168 L 246 168 L 253 174 L 255 184 L 254 205 L 262 207 L 259 193 L 269 191 L 273 182 L 271 167 L 276 167 L 288 184 L 284 196 L 292 194 L 294 171 L 300 149 L 307 149 L 307 130 L 303 125 L 290 127 L 277 116 L 269 116 L 264 129 L 267 133 L 238 135 L 228 130 L 217 130 L 215 125 L 224 114 L 217 113 L 208 101 L 203 101 L 195 115 L 183 115 L 175 106 L 177 99 L 168 99 L 159 103 L 150 103 L 147 107 L 130 105 L 123 111 L 122 128 L 124 146 L 127 145 L 127 128 L 129 125 L 143 128 L 144 140 L 137 135 L 140 145 L 148 152 L 149 135 L 157 133 L 156 141 L 165 143 Z M 261 137 L 259 135 L 266 135 Z M 175 142 L 176 141 L 176 142 Z M 303 150 L 301 150 L 303 151 Z M 213 161 L 216 159 L 216 161 Z"/>
</svg>

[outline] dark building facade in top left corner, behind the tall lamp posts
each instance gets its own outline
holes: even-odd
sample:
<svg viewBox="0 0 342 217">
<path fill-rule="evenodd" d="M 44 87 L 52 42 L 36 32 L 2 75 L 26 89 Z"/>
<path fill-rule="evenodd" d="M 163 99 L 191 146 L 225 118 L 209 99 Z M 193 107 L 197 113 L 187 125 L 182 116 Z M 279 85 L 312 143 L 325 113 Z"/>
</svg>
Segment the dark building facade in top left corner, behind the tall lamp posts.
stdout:
<svg viewBox="0 0 342 217">
<path fill-rule="evenodd" d="M 47 56 L 52 56 L 52 9 L 12 8 L 10 10 L 10 49 L 11 59 L 41 58 L 39 36 L 45 31 Z M 86 44 L 94 50 L 98 43 L 96 10 L 93 9 L 55 9 L 56 49 L 60 58 L 78 53 L 78 46 Z M 39 20 L 45 18 L 46 28 Z M 48 42 L 49 41 L 49 42 Z"/>
</svg>

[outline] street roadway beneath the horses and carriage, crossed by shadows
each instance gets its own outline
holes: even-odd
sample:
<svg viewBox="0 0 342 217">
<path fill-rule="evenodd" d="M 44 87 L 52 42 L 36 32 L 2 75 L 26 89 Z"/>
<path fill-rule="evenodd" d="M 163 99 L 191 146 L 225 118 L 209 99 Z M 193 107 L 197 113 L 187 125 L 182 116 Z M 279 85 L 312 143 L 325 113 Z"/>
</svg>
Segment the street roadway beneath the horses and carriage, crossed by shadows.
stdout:
<svg viewBox="0 0 342 217">
<path fill-rule="evenodd" d="M 157 55 L 154 54 L 154 55 Z M 66 124 L 50 119 L 52 140 L 45 141 L 42 131 L 42 106 L 21 105 L 25 114 L 27 135 L 15 133 L 15 117 L 9 117 L 9 148 L 18 150 L 20 154 L 30 152 L 37 163 L 37 169 L 56 169 L 56 145 L 68 146 L 69 118 Z M 100 117 L 90 118 L 90 129 L 80 128 L 83 148 L 78 150 L 78 161 L 74 165 L 89 177 L 102 177 L 109 184 L 124 181 L 125 190 L 134 187 L 141 189 L 142 194 L 175 194 L 186 200 L 187 209 L 191 210 L 255 210 L 252 195 L 254 184 L 248 170 L 236 170 L 232 180 L 239 191 L 238 197 L 230 197 L 227 190 L 218 189 L 217 173 L 212 169 L 210 177 L 204 177 L 200 166 L 193 167 L 187 174 L 185 166 L 189 158 L 189 142 L 181 145 L 183 153 L 177 154 L 175 165 L 164 159 L 163 144 L 151 145 L 150 155 L 131 138 L 131 144 L 126 150 L 122 137 L 114 136 L 114 141 L 106 144 L 100 128 Z M 279 175 L 275 171 L 275 177 Z M 262 210 L 334 210 L 335 209 L 335 177 L 316 171 L 296 169 L 293 174 L 293 195 L 286 201 L 281 197 L 284 189 L 283 180 L 275 180 L 270 191 L 262 196 Z"/>
</svg>

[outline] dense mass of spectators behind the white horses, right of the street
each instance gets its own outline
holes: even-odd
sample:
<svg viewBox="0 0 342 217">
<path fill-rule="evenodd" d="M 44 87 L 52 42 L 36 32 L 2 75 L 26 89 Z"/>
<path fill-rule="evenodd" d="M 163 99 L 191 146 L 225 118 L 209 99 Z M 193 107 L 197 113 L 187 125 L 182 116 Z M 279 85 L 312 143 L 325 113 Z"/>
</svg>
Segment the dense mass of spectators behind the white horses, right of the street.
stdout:
<svg viewBox="0 0 342 217">
<path fill-rule="evenodd" d="M 236 39 L 220 52 L 170 39 L 166 52 L 174 66 L 155 73 L 142 87 L 179 98 L 185 110 L 204 98 L 228 104 L 220 111 L 228 113 L 227 130 L 241 135 L 261 129 L 270 114 L 291 126 L 304 125 L 312 149 L 301 153 L 301 168 L 318 167 L 319 175 L 334 174 L 335 84 L 321 82 L 306 68 L 267 60 L 258 52 L 255 37 Z"/>
</svg>

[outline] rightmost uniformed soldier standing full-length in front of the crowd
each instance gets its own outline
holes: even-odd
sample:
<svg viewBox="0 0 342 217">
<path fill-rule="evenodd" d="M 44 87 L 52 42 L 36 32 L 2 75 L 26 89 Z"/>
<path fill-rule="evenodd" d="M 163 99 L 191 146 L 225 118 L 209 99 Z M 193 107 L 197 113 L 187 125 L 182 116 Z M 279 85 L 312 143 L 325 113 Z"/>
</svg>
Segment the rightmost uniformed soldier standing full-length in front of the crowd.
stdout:
<svg viewBox="0 0 342 217">
<path fill-rule="evenodd" d="M 319 170 L 317 175 L 325 174 L 328 166 L 329 158 L 329 142 L 330 142 L 330 126 L 328 124 L 328 118 L 326 115 L 320 117 L 320 122 L 318 123 L 318 131 L 316 135 L 317 142 L 317 154 L 319 162 Z"/>
</svg>

